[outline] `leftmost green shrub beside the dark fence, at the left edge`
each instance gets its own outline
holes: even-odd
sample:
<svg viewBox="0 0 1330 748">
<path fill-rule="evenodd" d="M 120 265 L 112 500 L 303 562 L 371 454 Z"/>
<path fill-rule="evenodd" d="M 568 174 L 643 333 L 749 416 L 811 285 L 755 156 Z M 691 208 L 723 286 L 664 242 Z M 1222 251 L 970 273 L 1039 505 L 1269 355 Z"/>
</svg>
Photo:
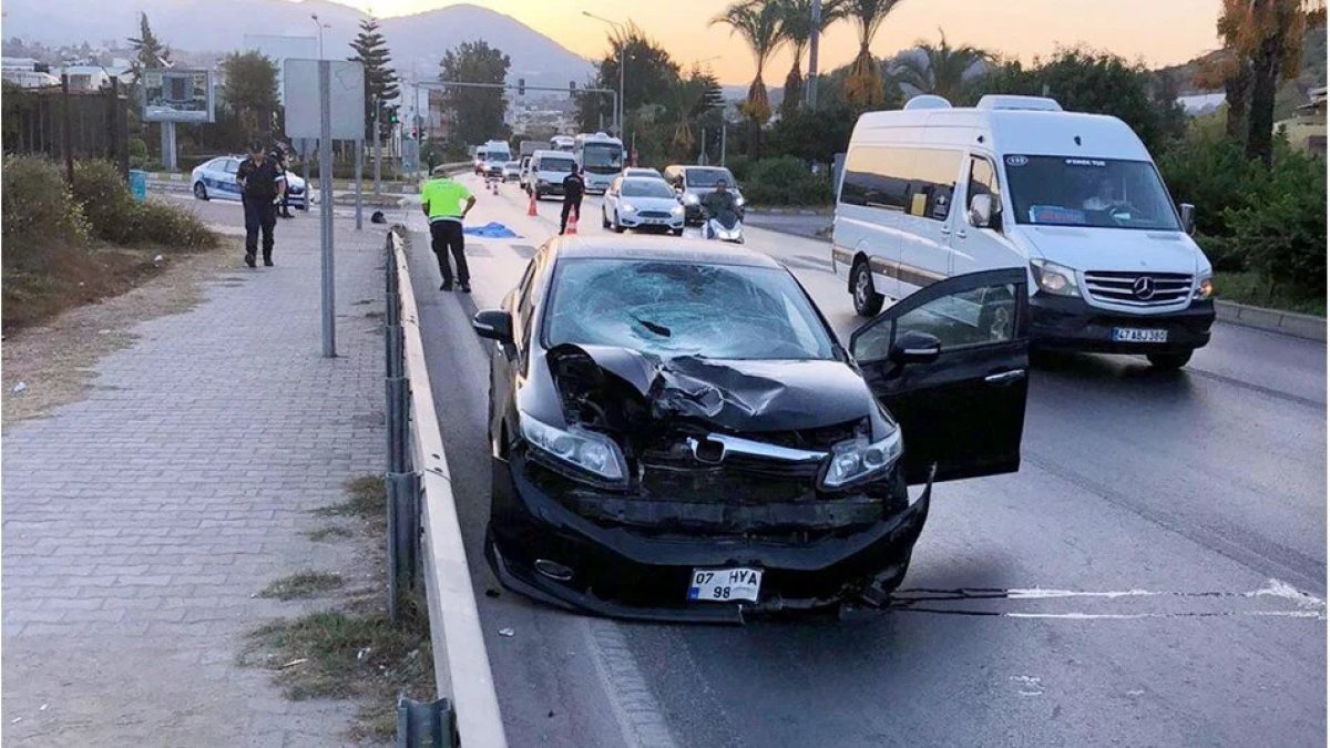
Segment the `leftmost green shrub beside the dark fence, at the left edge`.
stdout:
<svg viewBox="0 0 1330 748">
<path fill-rule="evenodd" d="M 53 249 L 86 245 L 88 221 L 53 161 L 7 156 L 0 196 L 7 269 L 47 270 Z"/>
</svg>

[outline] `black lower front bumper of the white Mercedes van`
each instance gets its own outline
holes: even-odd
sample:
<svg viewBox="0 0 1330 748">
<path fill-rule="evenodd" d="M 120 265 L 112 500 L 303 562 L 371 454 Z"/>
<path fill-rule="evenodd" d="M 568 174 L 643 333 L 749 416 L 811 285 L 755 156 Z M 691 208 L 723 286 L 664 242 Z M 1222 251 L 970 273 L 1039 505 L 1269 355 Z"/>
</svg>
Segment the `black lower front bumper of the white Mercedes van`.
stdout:
<svg viewBox="0 0 1330 748">
<path fill-rule="evenodd" d="M 1091 306 L 1080 297 L 1036 293 L 1029 297 L 1031 339 L 1035 347 L 1088 353 L 1184 353 L 1210 342 L 1214 301 L 1193 301 L 1181 311 L 1124 314 Z M 1168 330 L 1168 342 L 1113 341 L 1113 327 Z"/>
</svg>

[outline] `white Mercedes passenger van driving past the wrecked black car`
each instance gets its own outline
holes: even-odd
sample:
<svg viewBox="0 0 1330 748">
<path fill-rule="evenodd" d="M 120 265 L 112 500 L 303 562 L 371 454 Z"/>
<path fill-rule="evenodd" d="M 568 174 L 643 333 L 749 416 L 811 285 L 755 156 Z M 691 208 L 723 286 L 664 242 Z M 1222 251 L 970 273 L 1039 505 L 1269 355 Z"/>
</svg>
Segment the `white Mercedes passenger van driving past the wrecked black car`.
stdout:
<svg viewBox="0 0 1330 748">
<path fill-rule="evenodd" d="M 916 96 L 855 124 L 831 264 L 861 315 L 942 278 L 1024 268 L 1035 346 L 1177 369 L 1214 322 L 1193 213 L 1116 117 L 1031 96 L 972 109 Z"/>
</svg>

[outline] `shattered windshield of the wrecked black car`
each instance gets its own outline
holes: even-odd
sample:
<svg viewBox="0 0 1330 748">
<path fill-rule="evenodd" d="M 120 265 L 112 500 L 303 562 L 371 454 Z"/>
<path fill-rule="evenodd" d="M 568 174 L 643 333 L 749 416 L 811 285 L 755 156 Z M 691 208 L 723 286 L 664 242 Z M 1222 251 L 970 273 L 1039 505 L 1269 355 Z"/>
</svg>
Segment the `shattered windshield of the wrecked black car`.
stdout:
<svg viewBox="0 0 1330 748">
<path fill-rule="evenodd" d="M 563 260 L 551 294 L 545 347 L 620 346 L 661 358 L 834 358 L 813 305 L 778 268 Z"/>
</svg>

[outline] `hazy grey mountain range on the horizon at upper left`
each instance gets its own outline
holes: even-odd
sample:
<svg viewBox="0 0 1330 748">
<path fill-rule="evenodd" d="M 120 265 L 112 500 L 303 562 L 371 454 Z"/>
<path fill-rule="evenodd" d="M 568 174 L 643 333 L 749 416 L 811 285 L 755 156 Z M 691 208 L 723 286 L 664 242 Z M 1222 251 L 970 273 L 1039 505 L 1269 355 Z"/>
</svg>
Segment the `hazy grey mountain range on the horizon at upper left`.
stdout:
<svg viewBox="0 0 1330 748">
<path fill-rule="evenodd" d="M 533 0 L 545 1 L 545 0 Z M 344 57 L 363 15 L 327 0 L 98 0 L 97 11 L 66 0 L 4 0 L 4 36 L 45 45 L 124 47 L 138 36 L 138 12 L 148 13 L 153 32 L 169 47 L 190 52 L 225 53 L 241 49 L 246 35 L 313 37 L 315 21 L 327 24 L 323 45 L 329 57 Z M 592 65 L 525 24 L 477 5 L 448 5 L 412 16 L 380 20 L 394 67 L 406 80 L 434 77 L 447 49 L 483 39 L 512 60 L 509 79 L 528 85 L 583 85 Z M 109 43 L 109 44 L 108 44 Z"/>
</svg>

